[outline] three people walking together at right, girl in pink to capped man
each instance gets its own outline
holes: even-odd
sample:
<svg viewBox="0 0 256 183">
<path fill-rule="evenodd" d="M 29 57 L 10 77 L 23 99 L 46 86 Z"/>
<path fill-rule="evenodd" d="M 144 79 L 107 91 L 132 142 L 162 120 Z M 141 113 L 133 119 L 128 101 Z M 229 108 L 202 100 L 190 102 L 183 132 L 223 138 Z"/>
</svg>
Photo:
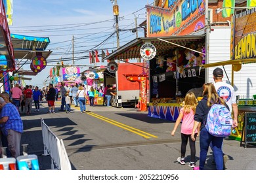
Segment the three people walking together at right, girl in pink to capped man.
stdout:
<svg viewBox="0 0 256 183">
<path fill-rule="evenodd" d="M 181 157 L 177 161 L 181 165 L 186 164 L 186 144 L 189 140 L 191 154 L 189 166 L 192 168 L 196 166 L 196 137 L 200 137 L 200 162 L 198 167 L 200 170 L 204 169 L 209 147 L 213 151 L 213 163 L 216 165 L 217 170 L 226 169 L 225 162 L 228 160 L 228 156 L 223 152 L 224 138 L 211 135 L 205 128 L 211 106 L 216 103 L 225 105 L 230 112 L 233 112 L 232 127 L 238 126 L 238 105 L 236 104 L 234 88 L 230 84 L 223 82 L 223 70 L 219 67 L 213 71 L 213 80 L 215 84 L 203 84 L 203 99 L 199 102 L 196 101 L 194 93 L 186 93 L 184 107 L 181 108 L 173 131 L 171 131 L 171 135 L 175 135 L 177 127 L 182 121 Z"/>
</svg>

